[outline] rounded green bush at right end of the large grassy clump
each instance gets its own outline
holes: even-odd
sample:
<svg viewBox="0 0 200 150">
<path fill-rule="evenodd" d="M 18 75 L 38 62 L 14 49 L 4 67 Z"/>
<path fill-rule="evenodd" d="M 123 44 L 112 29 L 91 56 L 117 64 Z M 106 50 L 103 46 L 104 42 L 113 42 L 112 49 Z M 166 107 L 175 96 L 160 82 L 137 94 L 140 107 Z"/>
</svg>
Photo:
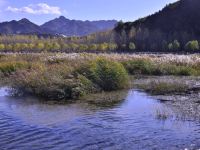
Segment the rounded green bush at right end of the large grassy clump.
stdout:
<svg viewBox="0 0 200 150">
<path fill-rule="evenodd" d="M 103 58 L 92 61 L 82 73 L 105 91 L 126 88 L 128 73 L 122 64 Z"/>
</svg>

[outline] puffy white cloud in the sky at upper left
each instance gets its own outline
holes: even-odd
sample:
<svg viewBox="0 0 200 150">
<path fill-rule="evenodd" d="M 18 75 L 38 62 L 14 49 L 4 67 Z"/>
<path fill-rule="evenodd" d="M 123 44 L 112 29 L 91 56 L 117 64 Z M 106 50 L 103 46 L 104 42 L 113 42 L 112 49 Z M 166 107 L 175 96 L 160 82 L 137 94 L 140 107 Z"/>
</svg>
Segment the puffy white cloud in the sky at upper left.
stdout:
<svg viewBox="0 0 200 150">
<path fill-rule="evenodd" d="M 42 14 L 52 14 L 52 15 L 61 15 L 62 11 L 57 6 L 49 6 L 46 3 L 39 3 L 39 4 L 30 4 L 25 7 L 16 8 L 9 6 L 7 11 L 15 12 L 15 13 L 28 13 L 28 14 L 36 14 L 36 15 L 42 15 Z"/>
</svg>

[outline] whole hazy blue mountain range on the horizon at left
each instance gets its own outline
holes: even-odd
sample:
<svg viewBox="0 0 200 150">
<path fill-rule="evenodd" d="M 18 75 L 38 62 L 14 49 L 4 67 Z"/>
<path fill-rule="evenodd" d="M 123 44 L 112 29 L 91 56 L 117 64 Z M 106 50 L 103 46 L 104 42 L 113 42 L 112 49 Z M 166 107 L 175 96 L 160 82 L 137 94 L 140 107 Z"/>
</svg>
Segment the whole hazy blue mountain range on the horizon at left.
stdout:
<svg viewBox="0 0 200 150">
<path fill-rule="evenodd" d="M 24 18 L 19 21 L 0 23 L 1 34 L 53 34 L 64 36 L 84 36 L 113 29 L 116 20 L 81 21 L 60 16 L 39 26 Z"/>
</svg>

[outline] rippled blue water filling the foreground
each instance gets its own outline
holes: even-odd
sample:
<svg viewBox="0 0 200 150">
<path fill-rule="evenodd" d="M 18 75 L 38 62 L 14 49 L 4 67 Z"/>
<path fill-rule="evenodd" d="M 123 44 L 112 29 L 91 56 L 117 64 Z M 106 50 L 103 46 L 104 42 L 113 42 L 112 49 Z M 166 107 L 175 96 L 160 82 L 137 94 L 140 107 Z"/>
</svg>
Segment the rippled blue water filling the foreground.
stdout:
<svg viewBox="0 0 200 150">
<path fill-rule="evenodd" d="M 200 148 L 200 123 L 160 120 L 168 109 L 145 93 L 130 90 L 117 105 L 50 105 L 11 98 L 0 90 L 1 150 L 132 150 Z"/>
</svg>

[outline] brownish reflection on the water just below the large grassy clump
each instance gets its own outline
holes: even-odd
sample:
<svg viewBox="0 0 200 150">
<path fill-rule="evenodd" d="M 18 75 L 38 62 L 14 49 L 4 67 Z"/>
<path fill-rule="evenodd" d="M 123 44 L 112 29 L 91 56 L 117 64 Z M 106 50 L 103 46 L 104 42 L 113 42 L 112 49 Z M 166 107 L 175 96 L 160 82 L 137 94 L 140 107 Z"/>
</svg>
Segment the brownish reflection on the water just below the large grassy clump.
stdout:
<svg viewBox="0 0 200 150">
<path fill-rule="evenodd" d="M 45 102 L 45 100 L 31 96 L 10 97 L 9 90 L 2 88 L 0 89 L 0 110 L 31 124 L 51 126 L 63 124 L 82 115 L 95 113 L 108 106 L 111 107 L 124 99 L 126 92 L 93 94 L 90 95 L 90 98 L 85 97 L 74 103 L 60 104 L 53 101 Z M 110 98 L 110 102 L 103 105 L 101 101 L 103 102 L 106 98 Z"/>
</svg>

